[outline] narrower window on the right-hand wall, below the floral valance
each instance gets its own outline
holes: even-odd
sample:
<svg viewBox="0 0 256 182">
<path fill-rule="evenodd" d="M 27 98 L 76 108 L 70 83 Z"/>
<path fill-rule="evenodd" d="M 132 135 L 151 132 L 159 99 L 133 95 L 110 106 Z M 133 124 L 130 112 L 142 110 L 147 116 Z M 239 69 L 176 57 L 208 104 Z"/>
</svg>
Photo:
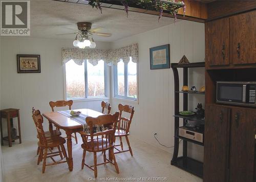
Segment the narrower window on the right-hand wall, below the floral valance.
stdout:
<svg viewBox="0 0 256 182">
<path fill-rule="evenodd" d="M 137 63 L 125 64 L 122 60 L 114 66 L 115 97 L 137 100 Z"/>
</svg>

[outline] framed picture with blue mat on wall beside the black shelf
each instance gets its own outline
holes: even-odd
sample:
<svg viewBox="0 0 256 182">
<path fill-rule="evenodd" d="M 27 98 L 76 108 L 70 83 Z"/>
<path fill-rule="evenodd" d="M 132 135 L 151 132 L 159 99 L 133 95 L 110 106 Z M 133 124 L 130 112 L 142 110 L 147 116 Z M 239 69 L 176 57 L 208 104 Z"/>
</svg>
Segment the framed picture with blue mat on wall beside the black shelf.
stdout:
<svg viewBox="0 0 256 182">
<path fill-rule="evenodd" d="M 170 45 L 150 48 L 150 69 L 170 68 Z"/>
</svg>

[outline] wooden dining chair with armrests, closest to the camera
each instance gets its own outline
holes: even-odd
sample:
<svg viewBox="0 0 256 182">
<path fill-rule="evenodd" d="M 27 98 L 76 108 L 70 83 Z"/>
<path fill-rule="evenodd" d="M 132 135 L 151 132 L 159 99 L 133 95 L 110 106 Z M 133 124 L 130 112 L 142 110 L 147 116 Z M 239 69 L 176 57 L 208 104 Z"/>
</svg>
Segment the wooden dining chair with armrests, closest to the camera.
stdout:
<svg viewBox="0 0 256 182">
<path fill-rule="evenodd" d="M 82 166 L 87 166 L 94 171 L 95 178 L 97 177 L 97 166 L 102 164 L 111 163 L 115 166 L 117 173 L 119 174 L 119 169 L 116 163 L 116 158 L 114 154 L 115 146 L 115 128 L 117 126 L 119 113 L 116 112 L 114 115 L 106 114 L 98 116 L 97 118 L 87 117 L 86 123 L 90 128 L 90 134 L 85 132 L 79 132 L 82 137 L 83 144 L 81 145 L 83 149 L 82 155 Z M 95 126 L 108 125 L 105 131 L 93 133 Z M 103 137 L 105 136 L 105 137 Z M 91 138 L 88 140 L 88 138 Z M 106 159 L 106 150 L 109 150 L 109 159 Z M 93 152 L 94 154 L 94 165 L 90 166 L 84 162 L 86 158 L 86 152 Z M 103 163 L 97 164 L 97 152 L 103 151 Z M 112 162 L 114 161 L 114 162 Z"/>
</svg>

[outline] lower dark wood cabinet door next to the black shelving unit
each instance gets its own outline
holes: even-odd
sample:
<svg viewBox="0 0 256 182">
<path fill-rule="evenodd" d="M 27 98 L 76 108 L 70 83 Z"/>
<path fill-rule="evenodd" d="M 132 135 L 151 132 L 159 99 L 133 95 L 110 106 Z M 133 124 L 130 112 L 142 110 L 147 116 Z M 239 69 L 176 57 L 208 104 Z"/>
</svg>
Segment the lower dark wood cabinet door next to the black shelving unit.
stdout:
<svg viewBox="0 0 256 182">
<path fill-rule="evenodd" d="M 204 131 L 205 182 L 227 180 L 230 109 L 206 106 Z"/>
</svg>

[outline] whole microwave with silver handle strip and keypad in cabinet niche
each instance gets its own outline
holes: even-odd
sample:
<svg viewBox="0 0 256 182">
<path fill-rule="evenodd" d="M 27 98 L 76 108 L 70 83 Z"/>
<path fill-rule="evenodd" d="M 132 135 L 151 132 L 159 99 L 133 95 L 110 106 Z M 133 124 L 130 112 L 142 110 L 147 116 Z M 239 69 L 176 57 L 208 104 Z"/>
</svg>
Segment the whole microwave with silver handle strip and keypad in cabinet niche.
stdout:
<svg viewBox="0 0 256 182">
<path fill-rule="evenodd" d="M 217 82 L 217 102 L 256 107 L 256 82 Z"/>
</svg>

